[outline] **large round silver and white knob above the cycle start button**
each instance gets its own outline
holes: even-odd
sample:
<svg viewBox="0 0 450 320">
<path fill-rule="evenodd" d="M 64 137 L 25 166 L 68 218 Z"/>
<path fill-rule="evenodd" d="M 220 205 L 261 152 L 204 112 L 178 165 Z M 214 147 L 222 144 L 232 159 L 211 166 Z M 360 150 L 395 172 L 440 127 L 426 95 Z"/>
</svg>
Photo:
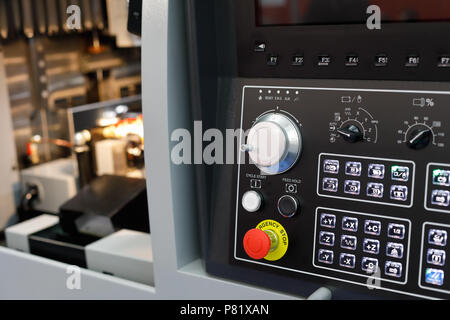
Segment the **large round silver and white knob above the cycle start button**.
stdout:
<svg viewBox="0 0 450 320">
<path fill-rule="evenodd" d="M 281 174 L 298 161 L 302 151 L 302 135 L 291 117 L 270 112 L 256 120 L 243 149 L 262 173 Z"/>
</svg>

